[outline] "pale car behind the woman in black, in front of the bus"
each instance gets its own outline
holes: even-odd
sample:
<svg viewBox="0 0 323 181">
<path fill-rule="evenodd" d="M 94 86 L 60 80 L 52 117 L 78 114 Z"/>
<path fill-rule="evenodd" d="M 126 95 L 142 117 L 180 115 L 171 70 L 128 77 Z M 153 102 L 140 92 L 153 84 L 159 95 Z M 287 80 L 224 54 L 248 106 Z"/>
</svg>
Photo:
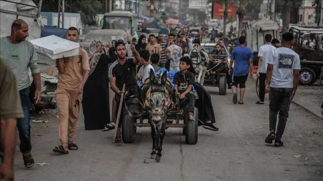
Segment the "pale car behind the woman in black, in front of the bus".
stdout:
<svg viewBox="0 0 323 181">
<path fill-rule="evenodd" d="M 112 29 L 103 29 L 103 30 L 93 30 L 86 34 L 83 41 L 80 44 L 83 45 L 86 51 L 89 50 L 90 44 L 93 40 L 101 40 L 103 43 L 112 40 L 124 40 L 130 42 L 132 36 L 126 31 L 112 30 Z"/>
</svg>

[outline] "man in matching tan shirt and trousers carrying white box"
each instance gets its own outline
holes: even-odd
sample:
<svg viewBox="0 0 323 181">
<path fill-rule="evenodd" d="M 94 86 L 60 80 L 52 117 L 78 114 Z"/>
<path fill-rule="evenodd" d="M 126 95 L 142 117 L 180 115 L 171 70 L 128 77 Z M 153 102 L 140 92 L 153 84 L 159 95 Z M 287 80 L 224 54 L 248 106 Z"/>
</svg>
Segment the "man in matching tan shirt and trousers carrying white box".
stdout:
<svg viewBox="0 0 323 181">
<path fill-rule="evenodd" d="M 67 31 L 67 39 L 77 42 L 79 32 L 75 27 Z M 78 146 L 73 143 L 76 123 L 80 113 L 83 86 L 89 76 L 89 61 L 86 51 L 80 47 L 79 55 L 57 60 L 59 70 L 59 82 L 56 93 L 56 101 L 59 108 L 59 136 L 61 145 L 53 151 L 69 153 L 69 150 L 77 150 Z"/>
</svg>

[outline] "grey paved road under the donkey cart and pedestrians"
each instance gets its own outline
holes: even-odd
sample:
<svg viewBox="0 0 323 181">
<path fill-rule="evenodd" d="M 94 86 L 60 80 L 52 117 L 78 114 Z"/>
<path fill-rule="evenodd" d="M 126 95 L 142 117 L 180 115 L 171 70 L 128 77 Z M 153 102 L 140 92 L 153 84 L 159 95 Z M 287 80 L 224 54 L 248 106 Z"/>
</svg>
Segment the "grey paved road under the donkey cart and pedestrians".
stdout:
<svg viewBox="0 0 323 181">
<path fill-rule="evenodd" d="M 137 130 L 135 143 L 116 146 L 112 132 L 84 131 L 83 120 L 75 140 L 80 149 L 56 155 L 51 151 L 59 143 L 56 114 L 42 114 L 51 121 L 32 124 L 32 153 L 36 162 L 50 165 L 26 170 L 17 152 L 16 180 L 323 180 L 322 120 L 292 104 L 285 146 L 265 145 L 268 103 L 254 104 L 253 85 L 247 82 L 244 105 L 233 105 L 230 91 L 220 96 L 217 88 L 208 88 L 220 131 L 199 128 L 198 143 L 186 145 L 181 130 L 168 129 L 159 163 L 149 159 L 148 128 Z"/>
</svg>

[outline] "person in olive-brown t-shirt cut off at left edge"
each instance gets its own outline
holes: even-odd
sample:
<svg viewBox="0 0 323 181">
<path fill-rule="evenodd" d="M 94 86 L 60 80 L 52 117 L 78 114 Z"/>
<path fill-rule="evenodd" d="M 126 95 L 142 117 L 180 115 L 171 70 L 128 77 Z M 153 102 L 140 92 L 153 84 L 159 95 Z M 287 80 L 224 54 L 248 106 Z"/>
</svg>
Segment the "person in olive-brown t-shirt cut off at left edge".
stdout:
<svg viewBox="0 0 323 181">
<path fill-rule="evenodd" d="M 23 118 L 15 74 L 0 58 L 0 179 L 14 180 L 17 118 Z"/>
</svg>

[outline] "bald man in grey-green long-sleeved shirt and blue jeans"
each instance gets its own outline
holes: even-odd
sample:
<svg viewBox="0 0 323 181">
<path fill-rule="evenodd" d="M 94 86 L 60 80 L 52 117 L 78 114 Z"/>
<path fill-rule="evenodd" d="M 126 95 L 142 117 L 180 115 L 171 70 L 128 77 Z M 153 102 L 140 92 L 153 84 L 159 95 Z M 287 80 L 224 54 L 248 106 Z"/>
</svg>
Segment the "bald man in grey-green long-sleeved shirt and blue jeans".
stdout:
<svg viewBox="0 0 323 181">
<path fill-rule="evenodd" d="M 24 118 L 17 119 L 17 128 L 20 138 L 20 151 L 23 155 L 24 164 L 27 168 L 34 165 L 31 155 L 30 142 L 30 101 L 29 89 L 32 81 L 28 76 L 28 69 L 36 87 L 34 101 L 40 100 L 40 70 L 37 65 L 37 53 L 34 46 L 26 39 L 28 25 L 21 19 L 17 19 L 11 26 L 11 35 L 0 38 L 0 56 L 10 65 L 18 84 Z"/>
</svg>

